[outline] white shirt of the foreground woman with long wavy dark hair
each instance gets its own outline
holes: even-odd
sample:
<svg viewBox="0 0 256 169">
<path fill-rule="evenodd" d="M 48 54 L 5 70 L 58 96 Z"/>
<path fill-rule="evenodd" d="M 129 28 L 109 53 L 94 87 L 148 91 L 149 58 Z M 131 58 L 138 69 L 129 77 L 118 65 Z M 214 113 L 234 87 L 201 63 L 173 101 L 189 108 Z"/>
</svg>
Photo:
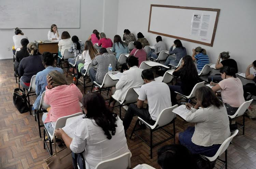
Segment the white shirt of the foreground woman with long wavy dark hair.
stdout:
<svg viewBox="0 0 256 169">
<path fill-rule="evenodd" d="M 86 169 L 94 169 L 102 161 L 130 152 L 127 146 L 123 121 L 117 116 L 116 133 L 109 140 L 95 120 L 84 118 L 77 127 L 70 150 L 83 152 Z M 111 131 L 110 131 L 111 134 Z"/>
</svg>

